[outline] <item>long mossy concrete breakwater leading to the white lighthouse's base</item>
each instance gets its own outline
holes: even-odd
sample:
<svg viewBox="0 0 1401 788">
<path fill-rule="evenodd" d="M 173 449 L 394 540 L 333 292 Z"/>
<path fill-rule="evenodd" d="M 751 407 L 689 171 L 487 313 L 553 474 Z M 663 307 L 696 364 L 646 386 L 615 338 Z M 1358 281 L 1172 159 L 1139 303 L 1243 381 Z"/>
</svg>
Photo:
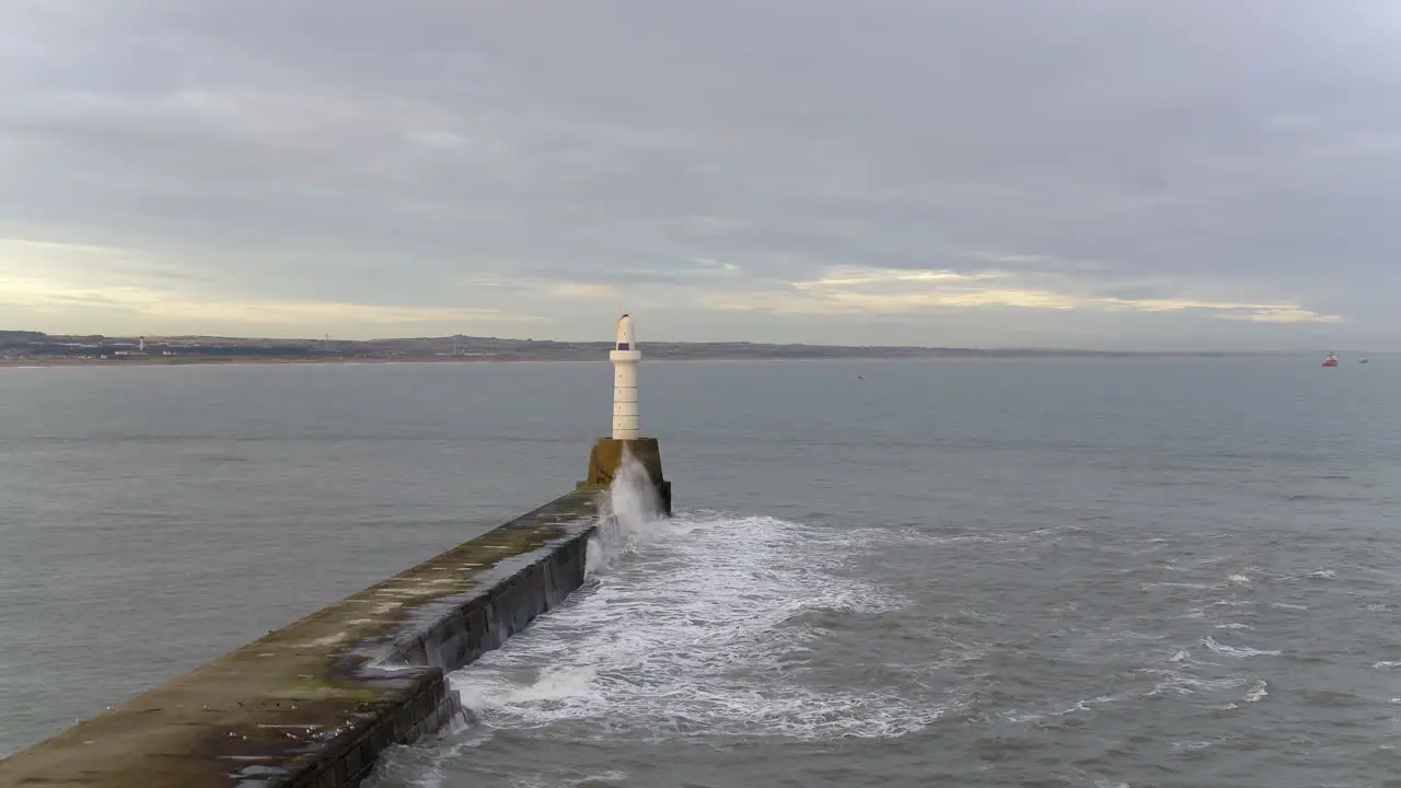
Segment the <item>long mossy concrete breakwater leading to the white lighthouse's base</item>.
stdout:
<svg viewBox="0 0 1401 788">
<path fill-rule="evenodd" d="M 0 761 L 0 787 L 340 788 L 461 715 L 446 673 L 584 579 L 576 491 Z"/>
</svg>

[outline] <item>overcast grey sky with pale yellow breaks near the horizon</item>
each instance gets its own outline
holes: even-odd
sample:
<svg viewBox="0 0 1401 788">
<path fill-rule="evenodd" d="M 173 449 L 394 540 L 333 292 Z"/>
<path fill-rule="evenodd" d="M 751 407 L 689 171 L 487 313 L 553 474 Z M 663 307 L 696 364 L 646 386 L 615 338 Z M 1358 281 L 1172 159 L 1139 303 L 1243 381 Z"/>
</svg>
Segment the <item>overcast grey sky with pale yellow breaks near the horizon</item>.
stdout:
<svg viewBox="0 0 1401 788">
<path fill-rule="evenodd" d="M 1394 0 L 6 0 L 0 328 L 1401 348 Z"/>
</svg>

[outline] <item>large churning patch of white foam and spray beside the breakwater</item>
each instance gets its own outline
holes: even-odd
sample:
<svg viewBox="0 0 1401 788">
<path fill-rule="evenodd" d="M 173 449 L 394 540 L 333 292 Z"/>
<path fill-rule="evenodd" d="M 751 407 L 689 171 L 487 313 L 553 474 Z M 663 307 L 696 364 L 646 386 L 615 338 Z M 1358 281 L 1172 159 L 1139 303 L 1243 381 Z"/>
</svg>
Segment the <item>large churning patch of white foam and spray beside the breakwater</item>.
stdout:
<svg viewBox="0 0 1401 788">
<path fill-rule="evenodd" d="M 584 739 L 894 738 L 948 708 L 913 680 L 852 690 L 813 663 L 824 628 L 908 603 L 846 576 L 855 545 L 832 543 L 849 533 L 772 517 L 657 520 L 623 477 L 586 586 L 451 676 L 483 725 L 562 725 Z"/>
</svg>

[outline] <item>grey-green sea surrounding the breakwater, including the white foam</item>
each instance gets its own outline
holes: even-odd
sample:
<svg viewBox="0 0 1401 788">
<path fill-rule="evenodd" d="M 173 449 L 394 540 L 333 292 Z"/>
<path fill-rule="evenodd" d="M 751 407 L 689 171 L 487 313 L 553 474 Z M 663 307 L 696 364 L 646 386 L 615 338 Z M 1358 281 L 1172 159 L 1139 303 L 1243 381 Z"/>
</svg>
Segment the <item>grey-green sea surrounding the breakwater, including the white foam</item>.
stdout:
<svg viewBox="0 0 1401 788">
<path fill-rule="evenodd" d="M 1401 775 L 1401 359 L 643 362 L 670 520 L 373 788 Z M 598 363 L 0 369 L 0 756 L 573 488 Z"/>
</svg>

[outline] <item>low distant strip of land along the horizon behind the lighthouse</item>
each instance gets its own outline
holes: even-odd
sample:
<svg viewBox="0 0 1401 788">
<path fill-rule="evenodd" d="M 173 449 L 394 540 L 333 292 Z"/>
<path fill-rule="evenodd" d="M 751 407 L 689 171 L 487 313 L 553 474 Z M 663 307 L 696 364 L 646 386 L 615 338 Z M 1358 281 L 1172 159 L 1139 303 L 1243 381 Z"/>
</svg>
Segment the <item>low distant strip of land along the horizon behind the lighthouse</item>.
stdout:
<svg viewBox="0 0 1401 788">
<path fill-rule="evenodd" d="M 0 366 L 186 366 L 268 363 L 584 362 L 607 358 L 607 342 L 425 337 L 408 339 L 266 339 L 231 337 L 104 337 L 0 331 Z M 839 359 L 1124 359 L 1292 356 L 1289 352 L 1076 351 L 1037 348 L 920 348 L 649 342 L 650 360 Z"/>
</svg>

